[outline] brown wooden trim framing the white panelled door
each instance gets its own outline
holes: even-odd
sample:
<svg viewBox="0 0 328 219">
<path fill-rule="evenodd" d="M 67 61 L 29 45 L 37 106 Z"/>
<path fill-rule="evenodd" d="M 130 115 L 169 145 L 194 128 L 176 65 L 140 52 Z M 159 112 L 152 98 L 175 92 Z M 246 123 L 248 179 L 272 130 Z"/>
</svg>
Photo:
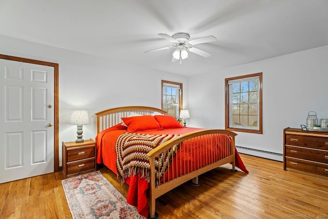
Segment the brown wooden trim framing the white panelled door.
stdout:
<svg viewBox="0 0 328 219">
<path fill-rule="evenodd" d="M 10 55 L 0 54 L 1 59 L 7 59 L 11 61 L 31 63 L 37 65 L 51 66 L 54 67 L 54 172 L 59 171 L 59 96 L 58 96 L 58 74 L 59 74 L 59 65 L 58 63 L 50 63 L 39 61 L 35 59 L 22 58 Z"/>
</svg>

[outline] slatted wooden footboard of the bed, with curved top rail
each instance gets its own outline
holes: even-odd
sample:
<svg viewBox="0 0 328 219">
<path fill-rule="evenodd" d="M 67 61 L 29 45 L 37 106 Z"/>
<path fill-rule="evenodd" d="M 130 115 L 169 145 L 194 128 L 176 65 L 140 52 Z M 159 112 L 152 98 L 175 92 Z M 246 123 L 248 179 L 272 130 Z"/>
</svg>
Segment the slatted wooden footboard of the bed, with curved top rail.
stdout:
<svg viewBox="0 0 328 219">
<path fill-rule="evenodd" d="M 150 216 L 155 216 L 155 200 L 157 197 L 191 180 L 198 175 L 232 163 L 235 170 L 235 136 L 237 134 L 227 130 L 202 130 L 180 135 L 159 147 L 151 150 L 150 157 Z M 177 153 L 170 158 L 173 168 L 159 164 L 159 156 L 168 153 L 173 146 L 178 146 Z M 183 154 L 185 160 L 182 160 Z M 187 154 L 187 155 L 186 155 Z M 188 157 L 189 156 L 189 157 Z M 180 159 L 180 160 L 179 160 Z M 156 164 L 157 163 L 157 164 Z M 169 164 L 167 164 L 169 165 Z M 156 178 L 155 169 L 168 169 L 167 177 Z M 171 171 L 171 172 L 170 172 Z"/>
</svg>

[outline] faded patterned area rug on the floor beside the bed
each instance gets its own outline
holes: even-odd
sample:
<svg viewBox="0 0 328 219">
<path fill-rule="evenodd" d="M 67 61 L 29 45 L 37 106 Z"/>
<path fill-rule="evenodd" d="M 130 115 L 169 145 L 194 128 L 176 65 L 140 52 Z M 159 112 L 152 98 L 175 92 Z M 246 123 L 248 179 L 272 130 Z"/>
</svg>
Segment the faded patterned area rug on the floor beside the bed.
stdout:
<svg viewBox="0 0 328 219">
<path fill-rule="evenodd" d="M 61 181 L 73 218 L 142 218 L 100 171 Z"/>
</svg>

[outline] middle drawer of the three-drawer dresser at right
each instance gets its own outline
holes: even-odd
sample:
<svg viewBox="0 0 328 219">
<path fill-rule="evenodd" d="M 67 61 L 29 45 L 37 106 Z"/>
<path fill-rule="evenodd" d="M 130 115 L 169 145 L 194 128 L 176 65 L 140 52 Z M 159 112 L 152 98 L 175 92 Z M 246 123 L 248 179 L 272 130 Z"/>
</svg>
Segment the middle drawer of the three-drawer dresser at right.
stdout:
<svg viewBox="0 0 328 219">
<path fill-rule="evenodd" d="M 286 146 L 286 156 L 328 164 L 328 151 Z"/>
</svg>

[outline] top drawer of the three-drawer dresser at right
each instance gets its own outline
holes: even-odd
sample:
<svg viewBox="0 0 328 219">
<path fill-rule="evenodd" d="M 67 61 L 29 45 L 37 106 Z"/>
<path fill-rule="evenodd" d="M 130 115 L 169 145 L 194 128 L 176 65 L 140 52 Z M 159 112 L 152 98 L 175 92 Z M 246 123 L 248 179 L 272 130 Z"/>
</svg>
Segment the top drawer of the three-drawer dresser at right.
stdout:
<svg viewBox="0 0 328 219">
<path fill-rule="evenodd" d="M 286 134 L 286 145 L 328 150 L 328 138 Z"/>
</svg>

